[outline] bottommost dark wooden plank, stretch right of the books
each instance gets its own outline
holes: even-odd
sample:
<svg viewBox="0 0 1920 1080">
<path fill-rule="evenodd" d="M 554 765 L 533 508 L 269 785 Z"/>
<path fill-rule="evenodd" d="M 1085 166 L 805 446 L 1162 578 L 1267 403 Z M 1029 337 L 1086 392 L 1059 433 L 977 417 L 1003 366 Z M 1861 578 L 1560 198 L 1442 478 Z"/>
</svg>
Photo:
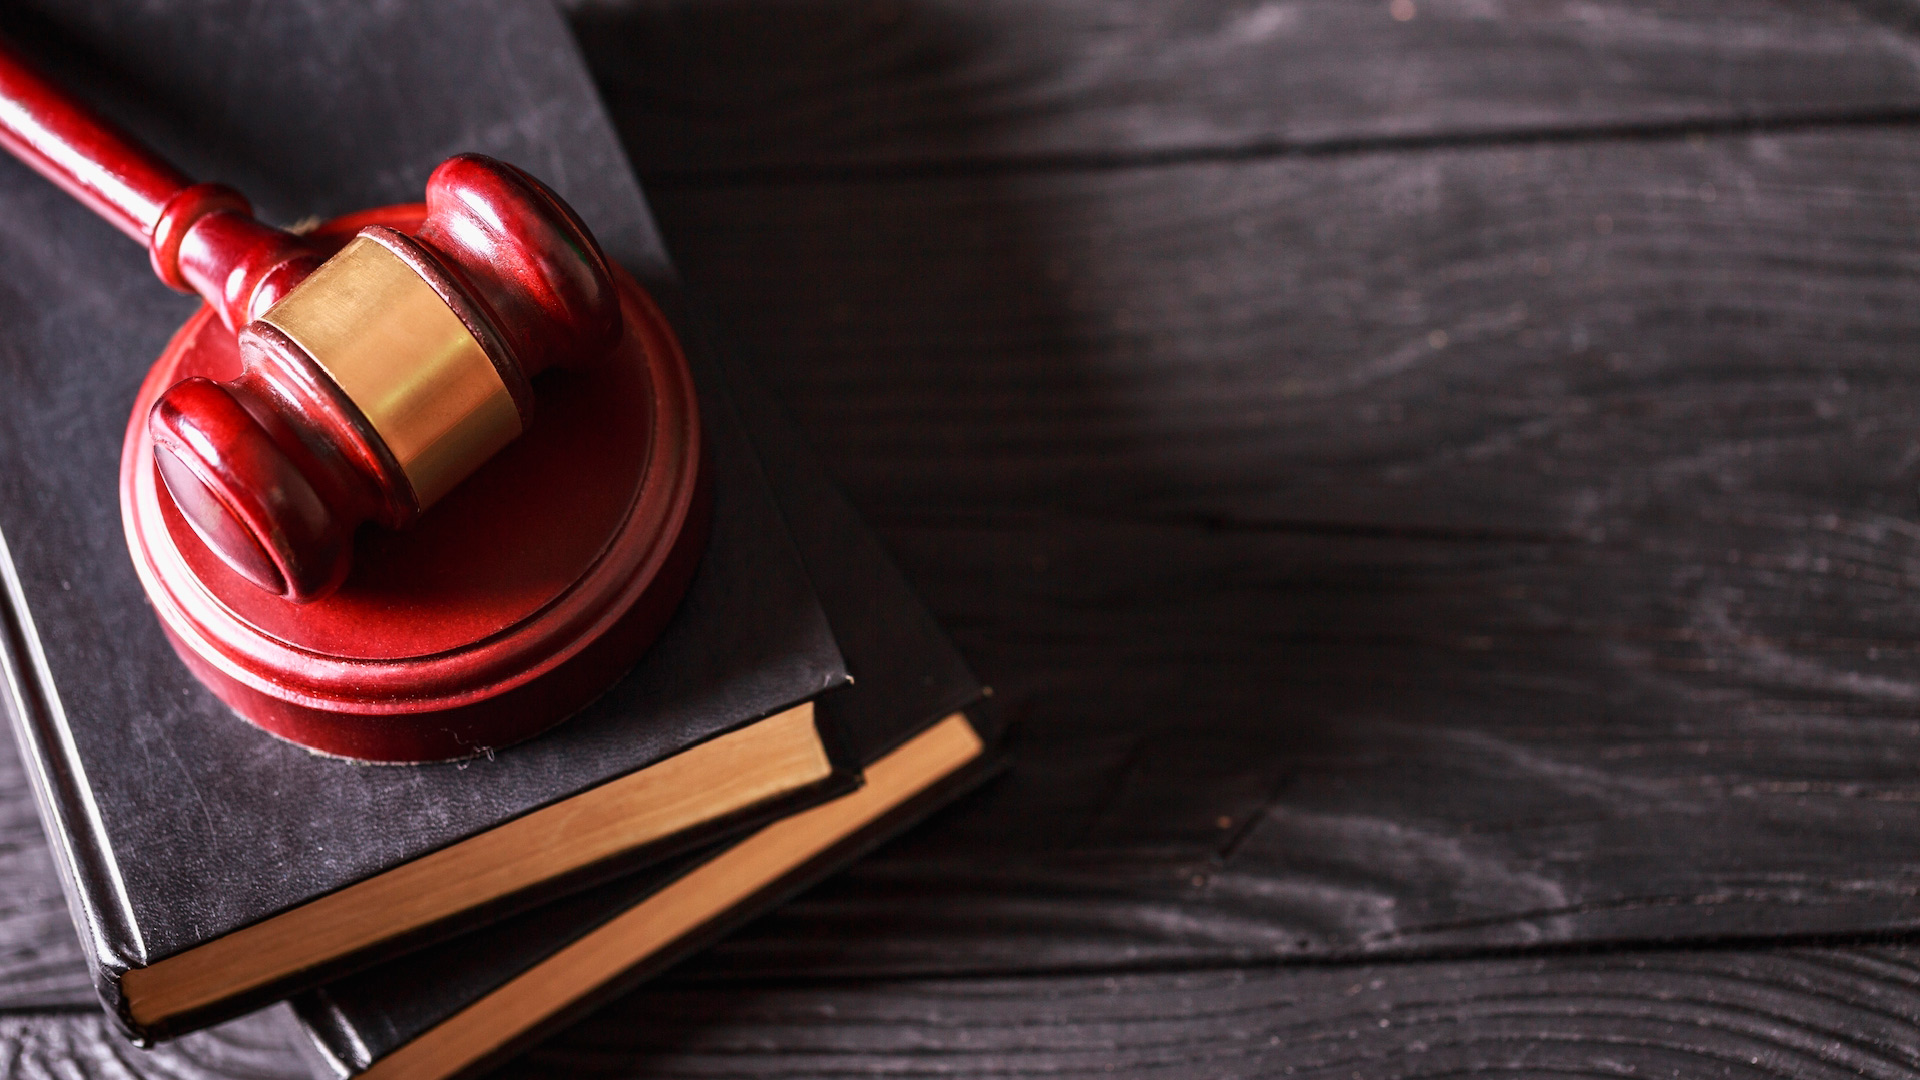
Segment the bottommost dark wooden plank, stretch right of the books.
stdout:
<svg viewBox="0 0 1920 1080">
<path fill-rule="evenodd" d="M 641 992 L 501 1076 L 1910 1078 L 1901 949 Z"/>
</svg>

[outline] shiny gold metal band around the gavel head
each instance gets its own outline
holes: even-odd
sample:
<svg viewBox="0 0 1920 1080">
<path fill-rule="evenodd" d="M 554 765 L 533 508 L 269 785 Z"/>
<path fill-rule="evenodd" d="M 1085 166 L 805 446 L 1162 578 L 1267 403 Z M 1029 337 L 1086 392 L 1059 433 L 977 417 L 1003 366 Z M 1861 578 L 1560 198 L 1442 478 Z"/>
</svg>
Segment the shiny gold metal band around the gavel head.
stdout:
<svg viewBox="0 0 1920 1080">
<path fill-rule="evenodd" d="M 265 315 L 321 365 L 426 509 L 520 434 L 520 411 L 465 323 L 399 256 L 355 236 Z"/>
</svg>

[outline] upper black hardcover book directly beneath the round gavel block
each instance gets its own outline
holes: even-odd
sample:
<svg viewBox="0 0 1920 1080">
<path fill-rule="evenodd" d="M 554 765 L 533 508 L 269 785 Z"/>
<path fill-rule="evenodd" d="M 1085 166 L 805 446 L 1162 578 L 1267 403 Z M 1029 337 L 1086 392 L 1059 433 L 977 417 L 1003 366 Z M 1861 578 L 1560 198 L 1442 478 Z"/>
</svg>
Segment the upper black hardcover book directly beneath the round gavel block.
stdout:
<svg viewBox="0 0 1920 1080">
<path fill-rule="evenodd" d="M 44 0 L 10 6 L 0 33 L 267 219 L 419 200 L 440 160 L 476 150 L 545 179 L 611 258 L 672 284 L 574 42 L 536 0 Z M 603 700 L 499 755 L 430 767 L 323 759 L 230 715 L 148 609 L 117 507 L 134 390 L 194 304 L 154 281 L 136 244 L 0 158 L 0 667 L 96 984 L 136 1040 L 845 790 L 808 703 L 845 682 L 843 657 L 724 382 L 697 356 L 712 542 L 664 636 Z M 695 759 L 708 780 L 756 786 L 666 824 L 632 813 L 632 834 L 559 872 L 536 861 L 492 892 L 442 872 L 426 899 L 394 901 L 392 882 L 459 865 L 449 853 L 497 855 L 476 844 L 555 809 L 607 792 L 645 801 L 668 765 L 699 782 L 680 767 Z M 630 803 L 593 805 L 628 821 Z M 376 922 L 351 928 L 355 911 Z M 267 934 L 284 926 L 300 932 Z M 175 970 L 190 974 L 159 976 Z"/>
</svg>

